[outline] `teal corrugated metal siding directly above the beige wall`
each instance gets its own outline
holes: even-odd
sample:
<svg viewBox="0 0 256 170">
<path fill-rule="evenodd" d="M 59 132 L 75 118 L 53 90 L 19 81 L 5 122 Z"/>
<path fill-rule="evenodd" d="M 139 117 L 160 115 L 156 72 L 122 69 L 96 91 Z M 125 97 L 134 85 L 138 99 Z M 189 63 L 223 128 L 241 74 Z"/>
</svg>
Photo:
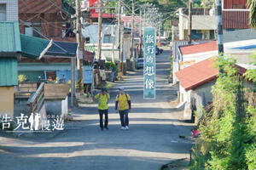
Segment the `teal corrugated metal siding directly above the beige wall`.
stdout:
<svg viewBox="0 0 256 170">
<path fill-rule="evenodd" d="M 0 58 L 0 87 L 18 85 L 17 67 L 17 59 Z"/>
</svg>

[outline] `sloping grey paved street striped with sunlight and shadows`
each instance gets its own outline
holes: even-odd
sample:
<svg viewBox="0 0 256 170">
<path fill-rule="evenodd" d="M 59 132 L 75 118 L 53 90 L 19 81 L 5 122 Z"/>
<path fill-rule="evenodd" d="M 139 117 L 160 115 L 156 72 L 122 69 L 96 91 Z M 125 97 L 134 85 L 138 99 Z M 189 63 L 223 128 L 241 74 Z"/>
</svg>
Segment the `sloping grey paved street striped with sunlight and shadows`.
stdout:
<svg viewBox="0 0 256 170">
<path fill-rule="evenodd" d="M 177 89 L 167 82 L 169 56 L 168 50 L 156 56 L 155 100 L 143 100 L 143 70 L 129 72 L 110 91 L 109 131 L 100 131 L 97 104 L 85 105 L 74 110 L 76 122 L 51 138 L 0 137 L 0 169 L 158 170 L 169 161 L 189 158 L 191 144 L 178 135 L 189 135 L 191 124 L 180 122 L 180 112 L 170 104 Z M 129 131 L 119 130 L 114 112 L 119 86 L 131 95 Z"/>
</svg>

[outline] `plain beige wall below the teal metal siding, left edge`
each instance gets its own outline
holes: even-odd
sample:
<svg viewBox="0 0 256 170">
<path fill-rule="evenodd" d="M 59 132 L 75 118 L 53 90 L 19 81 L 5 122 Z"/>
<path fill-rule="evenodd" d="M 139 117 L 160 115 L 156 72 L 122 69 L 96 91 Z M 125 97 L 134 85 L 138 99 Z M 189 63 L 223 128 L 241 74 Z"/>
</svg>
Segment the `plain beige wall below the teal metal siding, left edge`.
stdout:
<svg viewBox="0 0 256 170">
<path fill-rule="evenodd" d="M 14 118 L 14 94 L 15 87 L 0 87 L 0 116 Z"/>
</svg>

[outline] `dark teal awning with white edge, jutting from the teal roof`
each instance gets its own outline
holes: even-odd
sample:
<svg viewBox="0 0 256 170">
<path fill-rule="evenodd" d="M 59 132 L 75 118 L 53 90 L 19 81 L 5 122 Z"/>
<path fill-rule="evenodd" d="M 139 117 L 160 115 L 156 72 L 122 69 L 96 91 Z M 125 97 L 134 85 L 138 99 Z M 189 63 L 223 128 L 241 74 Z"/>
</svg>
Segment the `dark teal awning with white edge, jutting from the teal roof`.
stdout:
<svg viewBox="0 0 256 170">
<path fill-rule="evenodd" d="M 52 45 L 52 41 L 20 34 L 21 54 L 31 59 L 41 58 Z"/>
</svg>

